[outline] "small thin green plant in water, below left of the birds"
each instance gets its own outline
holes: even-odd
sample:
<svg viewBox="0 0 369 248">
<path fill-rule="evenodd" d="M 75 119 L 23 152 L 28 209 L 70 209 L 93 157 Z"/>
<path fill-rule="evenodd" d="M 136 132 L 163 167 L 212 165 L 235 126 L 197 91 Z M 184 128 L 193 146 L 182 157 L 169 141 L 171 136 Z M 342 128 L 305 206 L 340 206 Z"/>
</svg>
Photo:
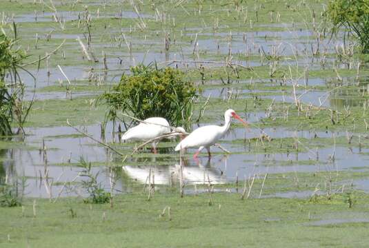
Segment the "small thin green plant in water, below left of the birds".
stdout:
<svg viewBox="0 0 369 248">
<path fill-rule="evenodd" d="M 91 163 L 88 163 L 84 158 L 80 158 L 79 167 L 82 167 L 81 176 L 87 178 L 87 180 L 82 180 L 82 187 L 85 188 L 90 195 L 88 198 L 83 199 L 85 203 L 103 204 L 109 203 L 111 194 L 103 189 L 101 183 L 97 183 L 97 174 L 92 174 Z"/>
</svg>

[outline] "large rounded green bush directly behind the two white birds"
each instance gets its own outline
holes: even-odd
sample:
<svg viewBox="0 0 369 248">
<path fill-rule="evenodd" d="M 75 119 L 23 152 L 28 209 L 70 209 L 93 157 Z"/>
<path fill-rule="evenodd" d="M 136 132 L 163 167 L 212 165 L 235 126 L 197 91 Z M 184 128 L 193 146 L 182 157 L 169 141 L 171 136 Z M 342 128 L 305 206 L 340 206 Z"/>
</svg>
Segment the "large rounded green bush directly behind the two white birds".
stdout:
<svg viewBox="0 0 369 248">
<path fill-rule="evenodd" d="M 102 96 L 110 107 L 110 118 L 121 111 L 141 120 L 157 116 L 172 125 L 190 123 L 196 89 L 193 83 L 183 80 L 183 72 L 152 65 L 138 65 L 131 72 L 132 75 L 123 74 L 112 92 Z"/>
</svg>

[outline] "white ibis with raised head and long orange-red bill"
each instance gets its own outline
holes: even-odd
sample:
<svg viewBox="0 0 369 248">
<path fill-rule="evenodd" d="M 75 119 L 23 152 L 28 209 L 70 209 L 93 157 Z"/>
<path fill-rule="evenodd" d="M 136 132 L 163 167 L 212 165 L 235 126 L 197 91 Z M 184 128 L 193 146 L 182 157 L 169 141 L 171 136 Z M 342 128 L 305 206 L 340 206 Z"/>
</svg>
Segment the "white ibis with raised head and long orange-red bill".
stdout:
<svg viewBox="0 0 369 248">
<path fill-rule="evenodd" d="M 239 121 L 243 123 L 247 127 L 248 123 L 243 121 L 238 114 L 236 114 L 235 110 L 227 110 L 224 113 L 224 123 L 223 126 L 218 125 L 207 125 L 203 127 L 197 128 L 197 130 L 190 133 L 186 138 L 181 141 L 177 147 L 175 147 L 175 151 L 179 151 L 180 149 L 185 149 L 189 147 L 199 147 L 197 152 L 194 154 L 194 158 L 197 160 L 197 155 L 201 152 L 203 148 L 208 150 L 209 157 L 210 154 L 210 146 L 214 145 L 220 138 L 222 138 L 230 128 L 231 118 L 237 118 Z"/>
</svg>

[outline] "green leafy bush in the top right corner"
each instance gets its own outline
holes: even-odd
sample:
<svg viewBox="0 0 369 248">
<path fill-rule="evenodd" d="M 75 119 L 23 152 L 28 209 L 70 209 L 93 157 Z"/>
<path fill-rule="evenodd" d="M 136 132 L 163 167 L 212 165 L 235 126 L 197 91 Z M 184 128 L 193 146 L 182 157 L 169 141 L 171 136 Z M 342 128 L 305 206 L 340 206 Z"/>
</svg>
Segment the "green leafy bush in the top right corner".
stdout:
<svg viewBox="0 0 369 248">
<path fill-rule="evenodd" d="M 334 0 L 328 5 L 328 16 L 339 28 L 345 26 L 359 38 L 363 53 L 369 53 L 369 1 Z"/>
</svg>

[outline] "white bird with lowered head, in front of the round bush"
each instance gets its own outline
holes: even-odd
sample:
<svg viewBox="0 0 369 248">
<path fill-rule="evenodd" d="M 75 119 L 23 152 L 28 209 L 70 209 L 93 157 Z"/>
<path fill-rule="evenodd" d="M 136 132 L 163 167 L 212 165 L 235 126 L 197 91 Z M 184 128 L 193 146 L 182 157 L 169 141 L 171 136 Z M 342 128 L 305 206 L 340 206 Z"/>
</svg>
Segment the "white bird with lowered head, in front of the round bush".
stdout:
<svg viewBox="0 0 369 248">
<path fill-rule="evenodd" d="M 183 127 L 177 127 L 175 131 L 186 133 Z M 150 141 L 164 134 L 170 134 L 170 125 L 165 118 L 151 117 L 143 120 L 139 125 L 130 128 L 121 137 L 122 141 Z M 174 138 L 170 136 L 168 138 Z M 159 140 L 152 142 L 152 151 L 157 153 L 157 143 Z"/>
</svg>

